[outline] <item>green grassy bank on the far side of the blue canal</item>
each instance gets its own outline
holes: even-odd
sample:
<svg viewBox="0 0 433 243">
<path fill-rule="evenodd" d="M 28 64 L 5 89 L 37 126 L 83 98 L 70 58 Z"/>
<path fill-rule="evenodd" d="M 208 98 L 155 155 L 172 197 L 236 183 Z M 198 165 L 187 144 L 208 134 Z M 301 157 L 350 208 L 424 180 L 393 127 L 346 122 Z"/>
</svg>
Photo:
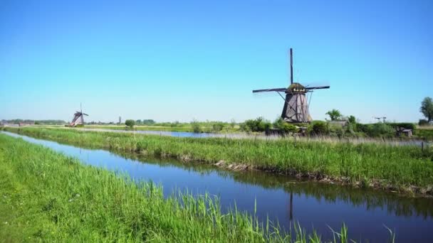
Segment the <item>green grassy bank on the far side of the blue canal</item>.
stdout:
<svg viewBox="0 0 433 243">
<path fill-rule="evenodd" d="M 287 139 L 194 139 L 68 129 L 6 128 L 28 136 L 219 166 L 433 194 L 433 149 Z M 239 166 L 241 165 L 241 166 Z"/>
</svg>

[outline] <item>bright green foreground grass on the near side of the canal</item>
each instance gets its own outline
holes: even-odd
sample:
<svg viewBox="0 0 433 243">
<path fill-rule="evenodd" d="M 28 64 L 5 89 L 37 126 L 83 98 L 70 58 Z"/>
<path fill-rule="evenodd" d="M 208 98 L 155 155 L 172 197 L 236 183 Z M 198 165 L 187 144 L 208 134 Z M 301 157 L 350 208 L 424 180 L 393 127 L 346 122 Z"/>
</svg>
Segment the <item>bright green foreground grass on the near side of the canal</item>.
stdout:
<svg viewBox="0 0 433 243">
<path fill-rule="evenodd" d="M 167 199 L 152 183 L 85 166 L 49 148 L 0 134 L 0 239 L 4 242 L 320 242 L 296 225 L 293 238 L 271 222 L 216 198 Z M 334 242 L 347 242 L 347 227 Z"/>
</svg>

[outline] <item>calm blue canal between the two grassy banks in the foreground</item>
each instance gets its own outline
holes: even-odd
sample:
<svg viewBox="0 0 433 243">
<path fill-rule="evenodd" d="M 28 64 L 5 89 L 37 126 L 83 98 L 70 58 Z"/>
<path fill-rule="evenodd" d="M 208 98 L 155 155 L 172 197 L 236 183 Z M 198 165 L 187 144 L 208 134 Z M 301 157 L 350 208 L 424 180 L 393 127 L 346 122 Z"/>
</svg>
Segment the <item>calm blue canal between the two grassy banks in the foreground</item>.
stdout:
<svg viewBox="0 0 433 243">
<path fill-rule="evenodd" d="M 350 238 L 362 242 L 389 239 L 384 225 L 395 230 L 397 242 L 433 242 L 432 198 L 407 198 L 257 171 L 223 171 L 177 161 L 125 157 L 104 150 L 4 133 L 78 157 L 86 164 L 126 172 L 135 180 L 160 183 L 166 196 L 172 190 L 186 188 L 196 195 L 208 192 L 219 196 L 224 211 L 234 207 L 236 202 L 239 210 L 251 213 L 256 200 L 256 215 L 260 220 L 266 220 L 268 215 L 286 229 L 293 222 L 300 222 L 308 230 L 314 227 L 322 234 L 322 239 L 330 237 L 329 227 L 340 229 L 345 222 Z"/>
</svg>

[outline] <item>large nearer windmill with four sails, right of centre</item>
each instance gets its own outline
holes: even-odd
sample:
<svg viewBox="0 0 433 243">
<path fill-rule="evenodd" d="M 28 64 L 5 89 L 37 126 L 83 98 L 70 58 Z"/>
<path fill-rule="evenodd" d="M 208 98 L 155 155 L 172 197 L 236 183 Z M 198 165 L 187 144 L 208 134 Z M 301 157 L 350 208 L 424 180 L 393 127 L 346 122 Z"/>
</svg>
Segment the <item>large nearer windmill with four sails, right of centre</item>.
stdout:
<svg viewBox="0 0 433 243">
<path fill-rule="evenodd" d="M 293 82 L 293 51 L 290 48 L 290 86 L 287 88 L 276 88 L 268 90 L 253 90 L 258 92 L 277 92 L 284 99 L 283 112 L 281 118 L 286 122 L 305 123 L 310 122 L 310 112 L 308 112 L 307 93 L 313 90 L 329 89 L 329 86 L 306 87 L 299 82 Z M 286 98 L 280 92 L 286 93 Z"/>
</svg>

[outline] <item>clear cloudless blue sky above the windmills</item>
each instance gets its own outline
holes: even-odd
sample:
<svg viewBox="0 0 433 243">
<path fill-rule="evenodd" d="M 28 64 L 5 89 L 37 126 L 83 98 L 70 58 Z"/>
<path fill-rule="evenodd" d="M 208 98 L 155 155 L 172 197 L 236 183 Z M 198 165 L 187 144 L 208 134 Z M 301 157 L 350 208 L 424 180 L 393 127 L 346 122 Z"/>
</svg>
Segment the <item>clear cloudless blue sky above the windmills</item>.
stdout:
<svg viewBox="0 0 433 243">
<path fill-rule="evenodd" d="M 275 119 L 295 80 L 311 115 L 417 121 L 433 97 L 433 1 L 0 1 L 0 119 Z"/>
</svg>

